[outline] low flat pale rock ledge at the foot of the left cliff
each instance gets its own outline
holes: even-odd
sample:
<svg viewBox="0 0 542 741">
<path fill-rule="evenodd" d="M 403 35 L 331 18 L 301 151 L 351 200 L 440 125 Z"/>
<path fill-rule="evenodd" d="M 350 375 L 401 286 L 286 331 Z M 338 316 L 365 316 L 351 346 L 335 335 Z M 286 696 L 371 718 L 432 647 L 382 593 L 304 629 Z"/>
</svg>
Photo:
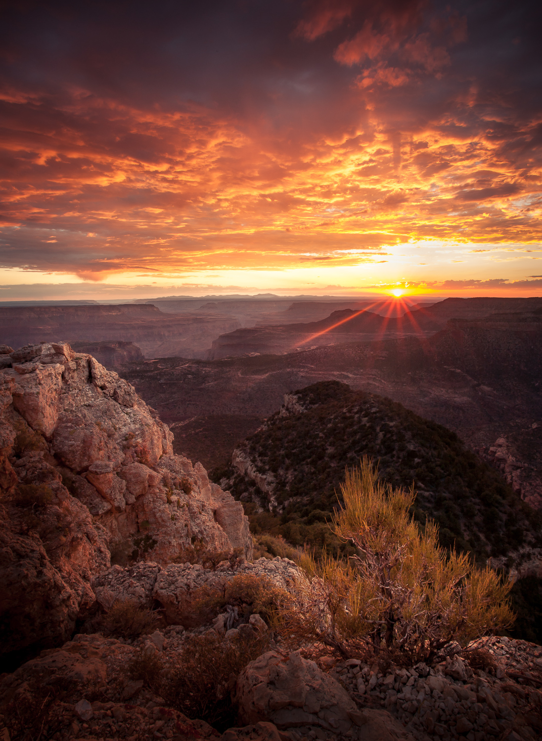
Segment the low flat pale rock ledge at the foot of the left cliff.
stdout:
<svg viewBox="0 0 542 741">
<path fill-rule="evenodd" d="M 288 592 L 305 584 L 303 572 L 293 561 L 261 558 L 254 563 L 241 563 L 237 568 L 225 561 L 215 571 L 188 563 L 163 567 L 139 563 L 129 569 L 113 566 L 94 579 L 93 590 L 105 610 L 117 599 L 131 599 L 146 608 L 160 605 L 169 623 L 194 628 L 214 617 L 212 610 L 199 604 L 202 587 L 222 590 L 226 582 L 239 574 L 269 579 Z"/>
</svg>

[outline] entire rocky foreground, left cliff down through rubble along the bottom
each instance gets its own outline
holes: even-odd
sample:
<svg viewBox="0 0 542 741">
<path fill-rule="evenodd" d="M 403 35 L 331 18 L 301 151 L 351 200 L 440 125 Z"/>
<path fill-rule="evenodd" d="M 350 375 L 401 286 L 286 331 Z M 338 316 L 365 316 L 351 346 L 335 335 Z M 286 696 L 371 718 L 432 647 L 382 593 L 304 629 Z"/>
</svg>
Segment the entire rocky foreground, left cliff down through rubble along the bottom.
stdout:
<svg viewBox="0 0 542 741">
<path fill-rule="evenodd" d="M 127 382 L 65 343 L 4 346 L 0 366 L 1 741 L 541 736 L 540 646 L 480 639 L 409 666 L 288 645 L 228 594 L 294 594 L 303 572 L 251 562 L 241 505 Z M 112 627 L 119 605 L 154 624 Z M 196 682 L 255 647 L 213 685 L 231 722 L 179 710 L 191 652 Z"/>
</svg>

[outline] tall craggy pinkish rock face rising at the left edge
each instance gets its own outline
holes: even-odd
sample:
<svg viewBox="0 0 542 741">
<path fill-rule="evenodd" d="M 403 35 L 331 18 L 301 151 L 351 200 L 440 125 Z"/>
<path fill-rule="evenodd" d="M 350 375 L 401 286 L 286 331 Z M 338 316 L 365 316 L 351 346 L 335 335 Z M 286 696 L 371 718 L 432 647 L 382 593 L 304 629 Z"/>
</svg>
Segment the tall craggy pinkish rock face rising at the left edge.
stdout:
<svg viewBox="0 0 542 741">
<path fill-rule="evenodd" d="M 252 554 L 242 505 L 127 382 L 65 343 L 0 346 L 3 653 L 66 639 L 117 559 Z M 199 546 L 197 551 L 196 546 Z"/>
</svg>

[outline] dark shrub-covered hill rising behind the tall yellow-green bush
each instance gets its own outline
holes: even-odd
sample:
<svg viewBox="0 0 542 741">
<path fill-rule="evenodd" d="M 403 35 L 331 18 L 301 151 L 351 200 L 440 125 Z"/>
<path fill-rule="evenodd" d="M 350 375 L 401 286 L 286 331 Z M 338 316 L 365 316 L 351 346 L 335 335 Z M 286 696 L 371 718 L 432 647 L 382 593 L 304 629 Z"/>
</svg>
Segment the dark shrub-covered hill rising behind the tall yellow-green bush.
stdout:
<svg viewBox="0 0 542 741">
<path fill-rule="evenodd" d="M 378 462 L 378 476 L 394 487 L 417 489 L 414 518 L 439 525 L 440 545 L 480 562 L 518 548 L 542 545 L 539 516 L 512 492 L 498 471 L 467 450 L 455 433 L 382 396 L 322 382 L 296 392 L 303 411 L 271 416 L 242 450 L 260 473 L 272 473 L 282 511 L 254 482 L 230 468 L 225 488 L 245 502 L 256 536 L 305 542 L 318 554 L 348 555 L 351 548 L 325 527 L 337 506 L 337 485 L 363 456 Z M 221 475 L 224 476 L 223 471 Z M 340 499 L 340 493 L 339 493 Z"/>
</svg>

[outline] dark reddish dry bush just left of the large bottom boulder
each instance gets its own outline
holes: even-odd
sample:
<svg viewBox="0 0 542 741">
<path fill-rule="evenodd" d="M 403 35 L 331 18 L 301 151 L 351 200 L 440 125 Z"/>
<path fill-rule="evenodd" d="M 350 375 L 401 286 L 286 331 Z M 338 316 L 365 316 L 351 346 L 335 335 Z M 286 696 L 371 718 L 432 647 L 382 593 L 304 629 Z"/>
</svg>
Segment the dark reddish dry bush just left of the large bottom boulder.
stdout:
<svg viewBox="0 0 542 741">
<path fill-rule="evenodd" d="M 270 648 L 268 633 L 231 640 L 217 634 L 191 637 L 162 682 L 161 697 L 189 718 L 225 731 L 237 720 L 231 690 L 245 666 Z"/>
</svg>

